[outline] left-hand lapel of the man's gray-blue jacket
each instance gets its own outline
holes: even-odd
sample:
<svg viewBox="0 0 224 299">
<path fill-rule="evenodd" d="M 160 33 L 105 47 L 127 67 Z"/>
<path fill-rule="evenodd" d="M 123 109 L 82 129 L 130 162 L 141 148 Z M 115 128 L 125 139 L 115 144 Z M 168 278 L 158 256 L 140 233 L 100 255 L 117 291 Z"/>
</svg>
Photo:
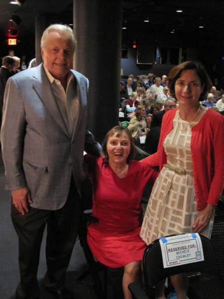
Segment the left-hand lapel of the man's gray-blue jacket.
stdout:
<svg viewBox="0 0 224 299">
<path fill-rule="evenodd" d="M 49 110 L 56 123 L 61 127 L 63 132 L 70 138 L 68 129 L 61 115 L 60 109 L 51 91 L 51 85 L 43 68 L 43 63 L 36 67 L 33 77 L 33 87 L 41 98 L 46 108 Z"/>
</svg>

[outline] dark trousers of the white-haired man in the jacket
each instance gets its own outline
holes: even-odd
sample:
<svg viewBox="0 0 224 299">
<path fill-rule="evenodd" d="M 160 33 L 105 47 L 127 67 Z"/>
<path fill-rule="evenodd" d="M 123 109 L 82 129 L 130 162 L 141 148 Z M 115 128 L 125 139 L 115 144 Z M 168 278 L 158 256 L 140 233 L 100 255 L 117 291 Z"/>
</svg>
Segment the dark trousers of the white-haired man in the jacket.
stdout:
<svg viewBox="0 0 224 299">
<path fill-rule="evenodd" d="M 11 205 L 11 218 L 19 239 L 20 283 L 16 299 L 38 299 L 37 270 L 40 247 L 47 224 L 46 262 L 47 273 L 44 285 L 49 289 L 60 289 L 65 282 L 80 223 L 80 196 L 71 180 L 65 205 L 56 211 L 31 208 L 22 216 Z"/>
</svg>

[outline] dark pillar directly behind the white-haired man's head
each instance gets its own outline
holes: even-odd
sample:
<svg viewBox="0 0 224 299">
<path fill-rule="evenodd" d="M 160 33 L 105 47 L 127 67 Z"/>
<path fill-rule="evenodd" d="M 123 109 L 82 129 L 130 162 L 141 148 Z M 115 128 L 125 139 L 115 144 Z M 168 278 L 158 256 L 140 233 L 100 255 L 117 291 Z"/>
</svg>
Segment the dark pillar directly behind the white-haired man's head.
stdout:
<svg viewBox="0 0 224 299">
<path fill-rule="evenodd" d="M 38 15 L 35 17 L 36 66 L 43 61 L 40 49 L 40 41 L 43 32 L 50 24 L 54 23 L 57 23 L 57 16 L 55 15 Z"/>
</svg>

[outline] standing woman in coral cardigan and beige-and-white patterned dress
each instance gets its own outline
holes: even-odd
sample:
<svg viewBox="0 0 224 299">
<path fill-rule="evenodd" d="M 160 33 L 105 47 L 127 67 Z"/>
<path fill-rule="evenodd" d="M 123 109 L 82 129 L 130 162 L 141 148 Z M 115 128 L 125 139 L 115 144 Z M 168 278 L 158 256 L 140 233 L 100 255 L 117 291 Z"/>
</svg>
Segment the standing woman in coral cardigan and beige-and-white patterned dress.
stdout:
<svg viewBox="0 0 224 299">
<path fill-rule="evenodd" d="M 142 162 L 160 166 L 140 236 L 151 243 L 176 233 L 211 236 L 214 210 L 224 188 L 224 117 L 200 105 L 212 83 L 200 63 L 184 62 L 168 76 L 179 108 L 163 117 L 158 151 Z M 186 299 L 187 274 L 171 277 L 178 299 Z M 164 298 L 164 282 L 156 299 Z"/>
</svg>

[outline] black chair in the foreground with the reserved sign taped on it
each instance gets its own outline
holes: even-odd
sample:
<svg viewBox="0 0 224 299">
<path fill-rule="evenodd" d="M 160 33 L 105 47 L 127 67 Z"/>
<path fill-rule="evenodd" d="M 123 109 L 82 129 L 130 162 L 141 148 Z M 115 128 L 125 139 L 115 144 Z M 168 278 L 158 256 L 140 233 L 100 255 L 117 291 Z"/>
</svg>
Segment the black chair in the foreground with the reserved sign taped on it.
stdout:
<svg viewBox="0 0 224 299">
<path fill-rule="evenodd" d="M 180 234 L 180 235 L 184 235 L 184 234 Z M 144 281 L 145 281 L 145 292 L 140 288 L 139 285 L 132 283 L 128 286 L 128 289 L 132 294 L 132 298 L 148 299 L 149 293 L 157 283 L 159 283 L 160 281 L 162 281 L 167 277 L 170 277 L 175 274 L 180 274 L 180 273 L 191 272 L 191 273 L 197 273 L 197 275 L 200 275 L 200 273 L 209 273 L 210 275 L 216 275 L 219 278 L 221 285 L 224 286 L 224 279 L 220 275 L 213 244 L 208 238 L 202 235 L 199 236 L 202 241 L 204 261 L 178 265 L 171 268 L 163 267 L 163 259 L 162 259 L 162 252 L 161 252 L 159 239 L 149 244 L 144 251 L 143 261 L 142 261 Z M 196 299 L 196 296 L 190 297 L 190 299 L 191 298 Z M 212 297 L 209 298 L 211 299 Z M 214 297 L 214 299 L 215 298 L 216 297 Z M 221 298 L 224 297 L 220 297 L 220 299 Z"/>
</svg>

